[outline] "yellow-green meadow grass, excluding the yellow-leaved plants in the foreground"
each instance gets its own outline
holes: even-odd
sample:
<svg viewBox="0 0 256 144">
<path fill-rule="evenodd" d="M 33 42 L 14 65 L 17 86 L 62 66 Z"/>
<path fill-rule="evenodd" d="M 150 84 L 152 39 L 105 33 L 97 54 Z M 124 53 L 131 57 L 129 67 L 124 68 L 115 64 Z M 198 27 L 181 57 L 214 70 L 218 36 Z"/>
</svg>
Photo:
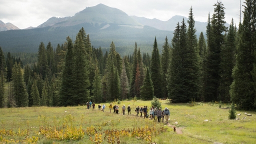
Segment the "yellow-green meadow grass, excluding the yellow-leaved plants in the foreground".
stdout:
<svg viewBox="0 0 256 144">
<path fill-rule="evenodd" d="M 253 111 L 237 111 L 241 113 L 240 120 L 229 120 L 228 109 L 218 108 L 218 104 L 189 106 L 187 103 L 166 103 L 160 100 L 162 108 L 168 107 L 170 110 L 171 125 L 181 128 L 182 134 L 173 132 L 171 127 L 165 123 L 159 123 L 158 126 L 168 127 L 167 131 L 152 137 L 152 141 L 157 143 L 254 143 L 256 141 L 256 112 Z M 101 103 L 102 105 L 103 103 Z M 107 106 L 109 103 L 104 103 Z M 131 113 L 135 115 L 136 106 L 150 106 L 150 101 L 132 100 L 121 101 L 119 104 L 131 106 Z M 127 129 L 133 127 L 141 127 L 150 125 L 153 120 L 136 117 L 134 115 L 122 115 L 109 113 L 106 108 L 105 112 L 86 109 L 85 106 L 67 106 L 67 107 L 19 107 L 19 108 L 1 108 L 0 109 L 0 129 L 20 129 L 29 128 L 29 136 L 39 137 L 39 143 L 92 143 L 89 136 L 85 136 L 81 140 L 50 140 L 42 135 L 36 135 L 41 125 L 57 125 L 61 126 L 67 115 L 73 116 L 72 125 L 77 128 L 81 125 L 84 130 L 86 127 L 93 125 L 95 128 L 101 127 L 101 132 L 106 129 Z M 66 111 L 66 112 L 65 112 Z M 127 111 L 126 111 L 127 112 Z M 246 116 L 244 112 L 251 113 L 252 116 Z M 242 119 L 246 117 L 245 119 Z M 204 121 L 208 119 L 209 121 Z M 178 124 L 174 124 L 177 121 Z M 102 124 L 107 122 L 106 124 Z M 70 123 L 69 123 L 70 124 Z M 104 134 L 104 133 L 103 133 Z M 24 138 L 3 136 L 5 139 Z M 103 138 L 103 136 L 102 136 Z M 103 143 L 107 143 L 106 140 Z M 142 139 L 134 137 L 121 137 L 120 143 L 146 143 Z"/>
</svg>

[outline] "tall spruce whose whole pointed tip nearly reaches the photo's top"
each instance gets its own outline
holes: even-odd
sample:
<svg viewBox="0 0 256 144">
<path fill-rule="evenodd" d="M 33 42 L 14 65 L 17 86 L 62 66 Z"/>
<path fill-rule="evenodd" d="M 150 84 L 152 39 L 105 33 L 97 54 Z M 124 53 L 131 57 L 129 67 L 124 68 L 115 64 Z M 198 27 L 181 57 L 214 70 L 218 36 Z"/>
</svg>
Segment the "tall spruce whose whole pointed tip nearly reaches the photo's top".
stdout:
<svg viewBox="0 0 256 144">
<path fill-rule="evenodd" d="M 220 51 L 221 46 L 224 42 L 223 32 L 226 31 L 225 27 L 225 12 L 223 4 L 221 1 L 217 1 L 213 6 L 214 12 L 211 17 L 211 27 L 207 27 L 210 31 L 207 33 L 208 47 L 209 47 L 209 56 L 207 59 L 208 62 L 208 77 L 207 77 L 207 93 L 205 95 L 206 101 L 217 100 L 218 97 L 218 87 L 219 87 L 219 70 L 220 70 Z"/>
</svg>

